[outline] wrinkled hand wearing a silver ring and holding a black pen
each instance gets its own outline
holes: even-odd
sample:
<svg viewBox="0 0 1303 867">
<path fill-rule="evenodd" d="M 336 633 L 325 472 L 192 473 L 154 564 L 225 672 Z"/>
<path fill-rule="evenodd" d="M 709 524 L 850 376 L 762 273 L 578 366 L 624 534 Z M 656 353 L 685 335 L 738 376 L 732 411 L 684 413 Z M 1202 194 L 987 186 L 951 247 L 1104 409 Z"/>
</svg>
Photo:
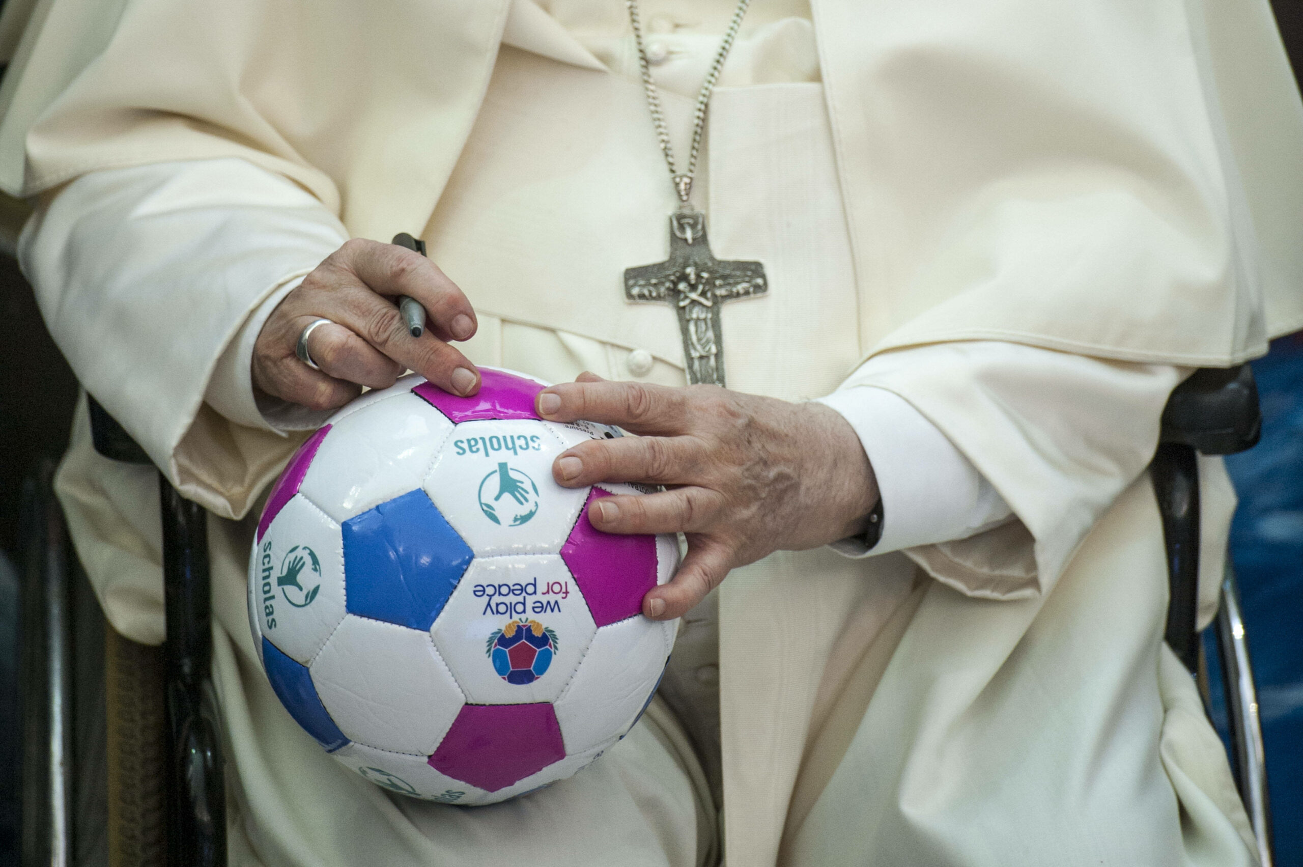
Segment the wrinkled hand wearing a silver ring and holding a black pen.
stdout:
<svg viewBox="0 0 1303 867">
<path fill-rule="evenodd" d="M 426 309 L 425 334 L 413 338 L 395 296 Z M 298 360 L 298 335 L 314 319 L 330 319 L 308 338 L 321 370 Z M 253 383 L 266 394 L 313 409 L 343 407 L 362 391 L 387 389 L 410 369 L 453 394 L 474 394 L 480 373 L 448 345 L 476 332 L 476 312 L 434 262 L 394 244 L 354 239 L 313 270 L 276 305 L 258 332 Z"/>
</svg>

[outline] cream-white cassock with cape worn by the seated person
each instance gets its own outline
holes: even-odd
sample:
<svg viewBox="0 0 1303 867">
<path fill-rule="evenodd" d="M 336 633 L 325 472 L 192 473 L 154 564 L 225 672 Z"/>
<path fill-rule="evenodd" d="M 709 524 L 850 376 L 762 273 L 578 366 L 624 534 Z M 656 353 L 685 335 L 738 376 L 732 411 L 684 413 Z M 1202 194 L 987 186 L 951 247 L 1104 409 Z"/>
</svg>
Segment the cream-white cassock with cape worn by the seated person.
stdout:
<svg viewBox="0 0 1303 867">
<path fill-rule="evenodd" d="M 126 3 L 60 78 L 55 3 L 0 129 L 12 180 L 23 111 L 46 112 L 26 189 L 59 192 L 22 261 L 56 340 L 227 519 L 210 536 L 233 863 L 685 864 L 721 844 L 732 864 L 1252 863 L 1160 645 L 1143 471 L 1190 368 L 1303 321 L 1280 291 L 1303 274 L 1280 235 L 1303 209 L 1281 169 L 1303 116 L 1265 7 L 757 4 L 698 181 L 715 254 L 764 261 L 771 284 L 723 313 L 730 386 L 852 422 L 882 540 L 735 570 L 685 618 L 675 712 L 654 704 L 571 781 L 460 810 L 335 765 L 261 673 L 244 516 L 298 442 L 284 433 L 321 420 L 255 400 L 261 323 L 344 239 L 425 223 L 480 313 L 473 361 L 684 379 L 674 316 L 619 284 L 665 257 L 672 207 L 623 4 L 427 5 L 377 4 L 375 33 L 323 8 L 292 44 L 279 4 Z M 679 140 L 730 13 L 645 4 Z M 1220 46 L 1204 14 L 1234 20 L 1209 29 Z M 468 57 L 498 42 L 476 78 Z M 1235 99 L 1250 82 L 1225 59 L 1246 47 L 1272 111 Z M 414 83 L 431 63 L 443 90 Z M 113 625 L 159 641 L 152 477 L 77 425 L 59 484 L 78 551 Z M 1220 462 L 1201 473 L 1212 574 L 1233 495 Z"/>
</svg>

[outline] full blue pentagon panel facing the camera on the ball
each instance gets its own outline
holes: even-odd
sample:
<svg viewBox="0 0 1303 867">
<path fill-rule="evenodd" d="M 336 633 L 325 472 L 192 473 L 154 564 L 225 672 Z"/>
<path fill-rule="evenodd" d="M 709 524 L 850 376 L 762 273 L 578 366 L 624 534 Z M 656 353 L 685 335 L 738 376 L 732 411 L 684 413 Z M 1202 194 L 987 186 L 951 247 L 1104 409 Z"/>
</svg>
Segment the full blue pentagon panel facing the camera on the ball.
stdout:
<svg viewBox="0 0 1303 867">
<path fill-rule="evenodd" d="M 474 553 L 423 490 L 351 518 L 344 531 L 348 611 L 429 630 Z"/>
</svg>

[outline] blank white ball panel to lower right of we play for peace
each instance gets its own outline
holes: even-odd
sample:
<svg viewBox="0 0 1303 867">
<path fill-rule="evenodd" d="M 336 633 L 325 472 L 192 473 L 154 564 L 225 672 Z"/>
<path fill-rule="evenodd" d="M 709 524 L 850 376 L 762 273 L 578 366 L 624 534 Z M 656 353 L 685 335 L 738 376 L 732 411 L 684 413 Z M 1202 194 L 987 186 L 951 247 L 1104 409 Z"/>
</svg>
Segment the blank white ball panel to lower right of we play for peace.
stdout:
<svg viewBox="0 0 1303 867">
<path fill-rule="evenodd" d="M 628 731 L 655 688 L 670 648 L 663 626 L 641 615 L 597 631 L 554 705 L 567 754 L 586 752 Z"/>
</svg>

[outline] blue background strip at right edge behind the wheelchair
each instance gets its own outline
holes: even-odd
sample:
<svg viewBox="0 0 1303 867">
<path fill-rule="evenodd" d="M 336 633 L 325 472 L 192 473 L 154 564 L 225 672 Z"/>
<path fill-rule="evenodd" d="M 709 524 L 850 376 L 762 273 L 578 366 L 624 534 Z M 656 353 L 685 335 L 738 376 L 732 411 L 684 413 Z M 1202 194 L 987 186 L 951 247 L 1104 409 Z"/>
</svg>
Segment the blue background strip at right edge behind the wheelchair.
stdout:
<svg viewBox="0 0 1303 867">
<path fill-rule="evenodd" d="M 1303 334 L 1274 342 L 1253 362 L 1253 374 L 1263 439 L 1226 458 L 1239 494 L 1230 550 L 1267 741 L 1276 863 L 1303 867 Z M 1216 649 L 1205 647 L 1213 714 L 1225 739 Z"/>
</svg>

